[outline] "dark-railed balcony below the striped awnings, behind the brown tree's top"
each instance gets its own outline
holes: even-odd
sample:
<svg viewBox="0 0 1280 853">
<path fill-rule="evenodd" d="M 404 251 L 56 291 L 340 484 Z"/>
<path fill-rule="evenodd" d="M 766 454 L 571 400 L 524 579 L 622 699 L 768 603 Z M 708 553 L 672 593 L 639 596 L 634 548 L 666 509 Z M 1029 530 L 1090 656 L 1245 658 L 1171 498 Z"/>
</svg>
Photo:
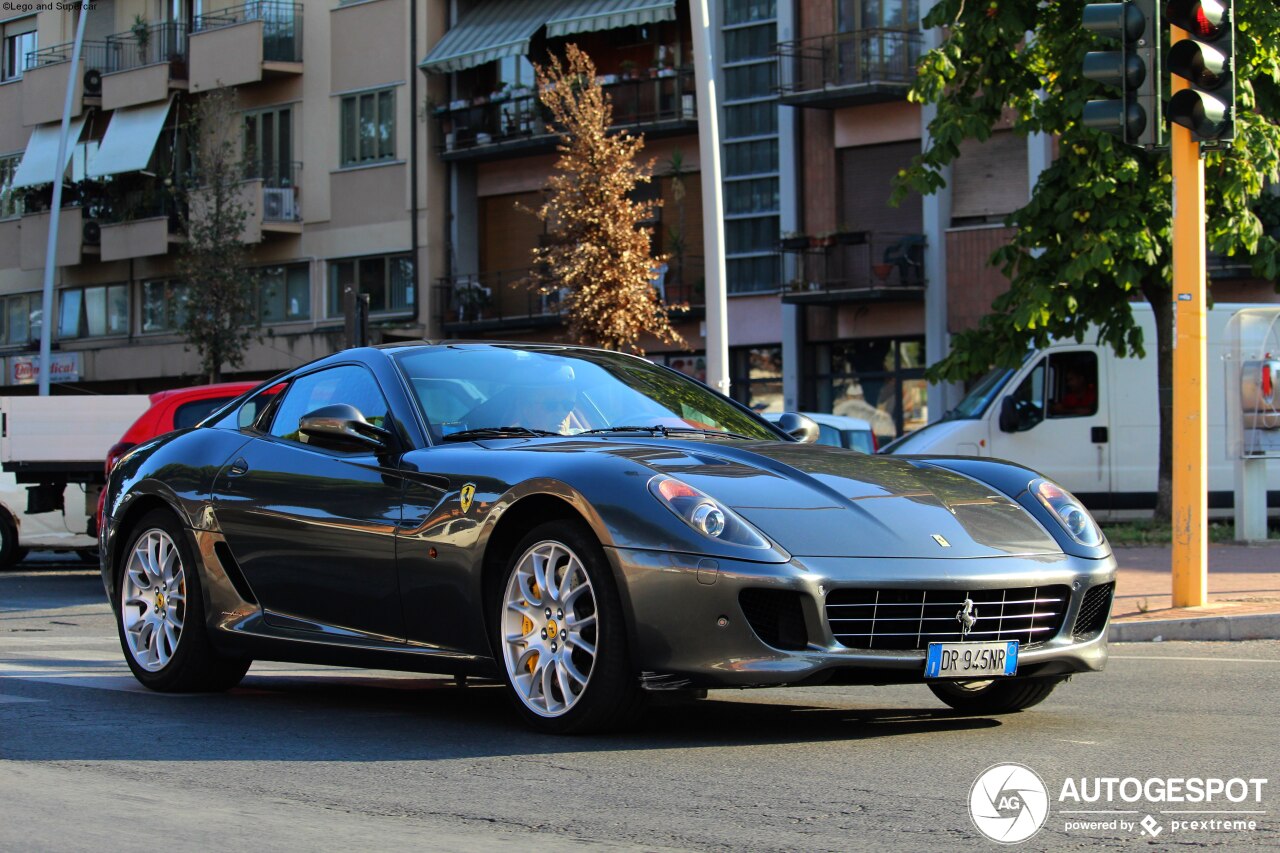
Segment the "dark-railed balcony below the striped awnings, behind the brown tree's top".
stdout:
<svg viewBox="0 0 1280 853">
<path fill-rule="evenodd" d="M 673 68 L 653 76 L 600 77 L 613 99 L 613 127 L 648 137 L 698 129 L 694 73 Z M 488 160 L 515 154 L 554 151 L 559 137 L 547 131 L 549 113 L 527 88 L 462 99 L 435 109 L 443 145 L 442 160 Z"/>
</svg>

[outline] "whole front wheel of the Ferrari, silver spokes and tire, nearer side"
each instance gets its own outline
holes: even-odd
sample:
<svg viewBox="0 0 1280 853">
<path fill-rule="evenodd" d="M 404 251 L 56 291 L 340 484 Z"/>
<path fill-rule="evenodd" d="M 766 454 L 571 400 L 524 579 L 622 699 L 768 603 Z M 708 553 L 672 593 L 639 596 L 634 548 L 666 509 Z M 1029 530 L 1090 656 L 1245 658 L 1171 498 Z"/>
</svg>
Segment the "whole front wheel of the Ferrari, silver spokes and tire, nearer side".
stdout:
<svg viewBox="0 0 1280 853">
<path fill-rule="evenodd" d="M 617 585 L 580 523 L 548 521 L 512 552 L 495 602 L 495 644 L 520 715 L 556 734 L 634 721 L 644 704 L 631 671 Z"/>
</svg>

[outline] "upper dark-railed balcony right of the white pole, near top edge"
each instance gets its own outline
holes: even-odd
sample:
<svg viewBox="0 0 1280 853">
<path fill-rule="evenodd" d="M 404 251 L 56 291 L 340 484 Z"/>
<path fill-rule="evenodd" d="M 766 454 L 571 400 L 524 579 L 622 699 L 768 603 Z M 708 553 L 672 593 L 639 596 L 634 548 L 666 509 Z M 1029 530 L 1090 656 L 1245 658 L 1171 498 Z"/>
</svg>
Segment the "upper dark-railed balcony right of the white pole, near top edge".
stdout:
<svg viewBox="0 0 1280 853">
<path fill-rule="evenodd" d="M 859 29 L 781 42 L 780 100 L 820 109 L 905 100 L 920 45 L 915 29 Z"/>
</svg>

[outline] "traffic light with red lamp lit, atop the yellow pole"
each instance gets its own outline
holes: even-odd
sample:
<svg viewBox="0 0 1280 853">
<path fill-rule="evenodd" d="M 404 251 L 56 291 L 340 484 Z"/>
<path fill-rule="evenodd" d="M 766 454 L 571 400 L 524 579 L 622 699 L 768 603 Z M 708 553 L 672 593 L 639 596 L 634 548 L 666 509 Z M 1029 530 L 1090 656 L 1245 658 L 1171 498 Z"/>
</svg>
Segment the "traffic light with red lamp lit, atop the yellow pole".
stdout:
<svg viewBox="0 0 1280 853">
<path fill-rule="evenodd" d="M 1188 36 L 1169 49 L 1169 72 L 1189 83 L 1169 100 L 1169 120 L 1201 142 L 1235 138 L 1234 6 L 1234 0 L 1169 3 L 1169 23 Z"/>
</svg>

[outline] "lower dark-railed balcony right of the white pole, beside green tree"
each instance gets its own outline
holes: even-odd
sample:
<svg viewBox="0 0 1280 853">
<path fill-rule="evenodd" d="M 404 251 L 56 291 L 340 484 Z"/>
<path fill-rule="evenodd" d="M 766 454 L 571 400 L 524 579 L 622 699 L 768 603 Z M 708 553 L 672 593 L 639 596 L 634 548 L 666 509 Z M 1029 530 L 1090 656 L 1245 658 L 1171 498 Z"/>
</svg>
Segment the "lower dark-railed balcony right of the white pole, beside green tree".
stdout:
<svg viewBox="0 0 1280 853">
<path fill-rule="evenodd" d="M 794 305 L 916 302 L 924 298 L 924 236 L 849 232 L 785 238 L 795 278 L 782 292 Z"/>
</svg>

